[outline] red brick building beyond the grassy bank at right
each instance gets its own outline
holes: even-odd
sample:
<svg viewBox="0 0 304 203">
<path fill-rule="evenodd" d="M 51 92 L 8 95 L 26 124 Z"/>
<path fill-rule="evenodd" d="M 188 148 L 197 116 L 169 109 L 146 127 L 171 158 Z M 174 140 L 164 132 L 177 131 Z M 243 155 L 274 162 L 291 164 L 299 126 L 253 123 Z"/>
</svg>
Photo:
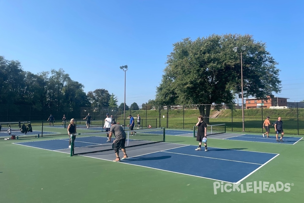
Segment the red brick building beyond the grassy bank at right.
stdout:
<svg viewBox="0 0 304 203">
<path fill-rule="evenodd" d="M 252 108 L 268 108 L 279 106 L 284 107 L 287 106 L 287 99 L 284 97 L 276 97 L 276 96 L 267 96 L 267 99 L 259 99 L 259 98 L 247 98 L 246 99 L 246 109 Z"/>
</svg>

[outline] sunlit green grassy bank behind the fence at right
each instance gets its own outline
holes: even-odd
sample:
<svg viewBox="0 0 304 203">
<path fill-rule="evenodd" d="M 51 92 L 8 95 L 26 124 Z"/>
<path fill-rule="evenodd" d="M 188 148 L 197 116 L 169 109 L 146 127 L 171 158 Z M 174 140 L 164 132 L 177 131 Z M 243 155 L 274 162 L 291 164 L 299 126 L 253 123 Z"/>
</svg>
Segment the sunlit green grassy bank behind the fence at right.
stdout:
<svg viewBox="0 0 304 203">
<path fill-rule="evenodd" d="M 161 114 L 160 114 L 161 113 Z M 242 112 L 240 109 L 236 110 L 221 110 L 221 113 L 216 117 L 212 118 L 212 115 L 216 111 L 211 110 L 209 124 L 226 124 L 227 131 L 231 132 L 242 132 Z M 199 110 L 137 110 L 132 111 L 133 115 L 140 114 L 142 118 L 157 118 L 161 117 L 161 127 L 168 128 L 185 128 L 193 129 L 196 124 L 196 118 L 199 115 Z M 263 116 L 262 116 L 263 115 Z M 164 117 L 163 117 L 164 116 Z M 263 122 L 266 117 L 271 117 L 271 123 L 274 123 L 277 118 L 282 117 L 283 129 L 286 134 L 291 135 L 304 135 L 304 109 L 245 109 L 244 110 L 244 125 L 246 132 L 262 133 Z M 299 119 L 297 119 L 299 118 Z M 274 132 L 274 127 L 271 127 Z"/>
</svg>

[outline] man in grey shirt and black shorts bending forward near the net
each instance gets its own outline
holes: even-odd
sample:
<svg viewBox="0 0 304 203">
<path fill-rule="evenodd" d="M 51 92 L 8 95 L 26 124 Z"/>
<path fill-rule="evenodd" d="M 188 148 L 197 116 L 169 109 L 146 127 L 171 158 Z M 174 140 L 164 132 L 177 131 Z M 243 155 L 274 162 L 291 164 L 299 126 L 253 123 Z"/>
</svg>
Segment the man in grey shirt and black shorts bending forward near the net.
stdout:
<svg viewBox="0 0 304 203">
<path fill-rule="evenodd" d="M 109 140 L 111 142 L 112 135 L 114 134 L 115 140 L 113 141 L 114 143 L 114 151 L 116 154 L 116 159 L 113 160 L 114 162 L 119 162 L 120 157 L 119 157 L 119 149 L 123 151 L 123 158 L 126 159 L 128 158 L 126 154 L 126 149 L 125 149 L 125 143 L 126 143 L 126 132 L 123 130 L 123 127 L 116 124 L 115 121 L 111 122 L 111 128 L 110 128 L 110 133 L 109 133 Z"/>
</svg>

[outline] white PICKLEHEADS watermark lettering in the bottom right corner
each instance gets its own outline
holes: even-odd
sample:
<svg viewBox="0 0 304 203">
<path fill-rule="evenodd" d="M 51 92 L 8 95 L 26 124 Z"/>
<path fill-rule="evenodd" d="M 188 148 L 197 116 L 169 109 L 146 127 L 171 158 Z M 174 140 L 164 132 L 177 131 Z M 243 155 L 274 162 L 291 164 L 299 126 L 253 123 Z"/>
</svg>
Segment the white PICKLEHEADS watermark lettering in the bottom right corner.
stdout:
<svg viewBox="0 0 304 203">
<path fill-rule="evenodd" d="M 254 193 L 262 193 L 265 192 L 273 192 L 276 193 L 278 191 L 284 191 L 289 192 L 291 187 L 293 186 L 293 183 L 285 183 L 278 181 L 275 183 L 270 183 L 266 181 L 254 181 L 254 182 L 248 182 L 248 183 L 238 183 L 238 184 L 232 184 L 232 183 L 224 183 L 224 182 L 214 182 L 213 183 L 213 191 L 214 194 L 217 194 L 218 192 L 254 192 Z"/>
</svg>

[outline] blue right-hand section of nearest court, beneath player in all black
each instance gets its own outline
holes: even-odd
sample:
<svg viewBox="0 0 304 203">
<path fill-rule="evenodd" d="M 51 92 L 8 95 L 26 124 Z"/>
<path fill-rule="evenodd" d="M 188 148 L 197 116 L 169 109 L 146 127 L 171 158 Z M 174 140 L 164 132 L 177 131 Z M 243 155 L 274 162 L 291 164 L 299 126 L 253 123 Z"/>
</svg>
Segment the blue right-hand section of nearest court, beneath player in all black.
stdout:
<svg viewBox="0 0 304 203">
<path fill-rule="evenodd" d="M 121 162 L 228 183 L 239 183 L 279 155 L 214 147 L 209 147 L 207 152 L 194 149 L 196 146 L 186 145 L 130 157 Z M 238 172 L 235 173 L 235 171 Z"/>
</svg>

